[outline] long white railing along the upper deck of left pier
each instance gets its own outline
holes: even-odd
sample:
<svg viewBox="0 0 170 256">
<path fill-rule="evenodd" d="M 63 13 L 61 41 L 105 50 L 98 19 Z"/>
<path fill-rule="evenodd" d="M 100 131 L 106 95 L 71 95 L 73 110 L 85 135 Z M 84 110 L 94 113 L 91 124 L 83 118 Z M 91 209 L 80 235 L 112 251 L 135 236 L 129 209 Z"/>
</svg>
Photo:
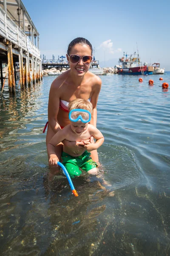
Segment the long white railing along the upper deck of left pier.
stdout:
<svg viewBox="0 0 170 256">
<path fill-rule="evenodd" d="M 13 20 L 0 7 L 0 35 L 12 43 L 22 47 L 37 58 L 40 50 L 31 42 L 26 34 L 14 23 Z"/>
</svg>

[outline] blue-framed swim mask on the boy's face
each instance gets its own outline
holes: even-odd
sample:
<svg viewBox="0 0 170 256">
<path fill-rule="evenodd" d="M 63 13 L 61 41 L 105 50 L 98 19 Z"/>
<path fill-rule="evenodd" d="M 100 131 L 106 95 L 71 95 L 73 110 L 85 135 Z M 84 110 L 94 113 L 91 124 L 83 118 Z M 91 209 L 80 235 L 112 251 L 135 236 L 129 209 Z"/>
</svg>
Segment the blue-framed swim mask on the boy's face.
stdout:
<svg viewBox="0 0 170 256">
<path fill-rule="evenodd" d="M 85 109 L 72 109 L 69 113 L 69 119 L 71 122 L 90 122 L 91 120 L 91 113 Z"/>
</svg>

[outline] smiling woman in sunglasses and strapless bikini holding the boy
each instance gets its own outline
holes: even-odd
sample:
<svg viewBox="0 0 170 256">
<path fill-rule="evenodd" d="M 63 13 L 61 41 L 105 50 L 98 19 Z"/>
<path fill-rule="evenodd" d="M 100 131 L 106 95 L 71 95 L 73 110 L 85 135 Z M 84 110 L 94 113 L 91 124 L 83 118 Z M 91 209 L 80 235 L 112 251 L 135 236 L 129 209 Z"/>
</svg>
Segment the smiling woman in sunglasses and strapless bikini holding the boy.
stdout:
<svg viewBox="0 0 170 256">
<path fill-rule="evenodd" d="M 93 105 L 91 115 L 91 124 L 96 126 L 97 121 L 97 100 L 101 89 L 101 79 L 89 72 L 92 60 L 92 46 L 85 38 L 76 38 L 68 46 L 67 60 L 70 64 L 70 70 L 62 73 L 51 84 L 48 101 L 48 131 L 46 144 L 51 140 L 54 134 L 70 123 L 68 118 L 68 103 L 73 99 L 90 100 Z M 93 139 L 90 139 L 91 142 Z M 83 147 L 83 142 L 69 142 L 75 146 L 75 150 Z M 62 154 L 62 143 L 55 147 L 59 160 Z M 91 157 L 98 162 L 97 151 L 91 151 Z M 49 160 L 49 155 L 48 155 Z"/>
</svg>

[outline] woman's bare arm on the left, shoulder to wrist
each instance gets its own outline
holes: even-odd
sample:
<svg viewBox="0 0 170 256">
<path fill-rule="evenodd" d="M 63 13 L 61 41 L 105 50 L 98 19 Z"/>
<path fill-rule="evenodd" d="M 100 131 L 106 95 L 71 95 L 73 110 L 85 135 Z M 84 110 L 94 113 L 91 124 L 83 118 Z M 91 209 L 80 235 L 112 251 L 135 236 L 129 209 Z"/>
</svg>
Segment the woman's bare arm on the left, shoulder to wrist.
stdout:
<svg viewBox="0 0 170 256">
<path fill-rule="evenodd" d="M 52 82 L 48 99 L 48 122 L 54 133 L 61 129 L 57 120 L 60 98 L 60 90 L 58 84 L 59 81 L 57 81 L 57 79 Z"/>
</svg>

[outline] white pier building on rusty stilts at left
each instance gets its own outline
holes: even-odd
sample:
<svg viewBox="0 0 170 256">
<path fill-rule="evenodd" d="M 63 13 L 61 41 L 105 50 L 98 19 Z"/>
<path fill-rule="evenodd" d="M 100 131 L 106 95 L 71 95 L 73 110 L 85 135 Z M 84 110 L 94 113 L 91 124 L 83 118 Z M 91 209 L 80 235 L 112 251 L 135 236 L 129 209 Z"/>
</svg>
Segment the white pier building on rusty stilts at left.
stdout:
<svg viewBox="0 0 170 256">
<path fill-rule="evenodd" d="M 0 79 L 4 86 L 8 76 L 11 93 L 15 93 L 18 62 L 21 87 L 42 79 L 39 33 L 31 17 L 21 0 L 0 0 Z"/>
</svg>

